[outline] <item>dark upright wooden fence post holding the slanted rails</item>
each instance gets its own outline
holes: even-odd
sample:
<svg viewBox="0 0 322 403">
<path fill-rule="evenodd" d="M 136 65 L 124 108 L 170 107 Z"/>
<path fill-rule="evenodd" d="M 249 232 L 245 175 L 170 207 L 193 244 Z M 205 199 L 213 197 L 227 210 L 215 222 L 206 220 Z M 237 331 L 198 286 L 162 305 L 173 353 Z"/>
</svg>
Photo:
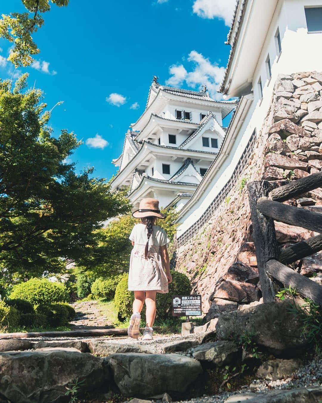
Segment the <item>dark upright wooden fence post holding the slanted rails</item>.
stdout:
<svg viewBox="0 0 322 403">
<path fill-rule="evenodd" d="M 247 187 L 260 287 L 264 302 L 270 302 L 274 301 L 276 291 L 272 280 L 266 273 L 265 264 L 268 260 L 278 257 L 275 225 L 272 218 L 264 216 L 256 207 L 258 199 L 268 196 L 270 188 L 268 181 L 250 182 Z"/>
</svg>

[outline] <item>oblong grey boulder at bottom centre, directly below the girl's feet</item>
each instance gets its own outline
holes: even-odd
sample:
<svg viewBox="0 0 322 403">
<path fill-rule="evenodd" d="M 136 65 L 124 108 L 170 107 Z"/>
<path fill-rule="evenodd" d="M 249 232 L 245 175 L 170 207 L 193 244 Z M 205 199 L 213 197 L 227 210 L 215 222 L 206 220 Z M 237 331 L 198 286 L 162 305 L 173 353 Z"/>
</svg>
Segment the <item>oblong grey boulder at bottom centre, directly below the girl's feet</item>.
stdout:
<svg viewBox="0 0 322 403">
<path fill-rule="evenodd" d="M 200 362 L 179 354 L 112 354 L 106 358 L 124 396 L 184 392 L 202 373 Z"/>
</svg>

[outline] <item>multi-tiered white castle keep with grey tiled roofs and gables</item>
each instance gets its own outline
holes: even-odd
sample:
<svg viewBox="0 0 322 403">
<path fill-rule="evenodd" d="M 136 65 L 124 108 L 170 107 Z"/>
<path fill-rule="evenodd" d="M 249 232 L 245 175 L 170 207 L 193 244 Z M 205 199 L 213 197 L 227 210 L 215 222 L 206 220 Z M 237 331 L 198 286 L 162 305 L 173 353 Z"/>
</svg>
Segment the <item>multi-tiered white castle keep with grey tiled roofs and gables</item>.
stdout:
<svg viewBox="0 0 322 403">
<path fill-rule="evenodd" d="M 206 88 L 189 91 L 153 79 L 146 108 L 130 126 L 112 191 L 128 187 L 134 208 L 143 197 L 181 209 L 190 199 L 225 137 L 223 118 L 234 101 L 213 100 Z"/>
</svg>

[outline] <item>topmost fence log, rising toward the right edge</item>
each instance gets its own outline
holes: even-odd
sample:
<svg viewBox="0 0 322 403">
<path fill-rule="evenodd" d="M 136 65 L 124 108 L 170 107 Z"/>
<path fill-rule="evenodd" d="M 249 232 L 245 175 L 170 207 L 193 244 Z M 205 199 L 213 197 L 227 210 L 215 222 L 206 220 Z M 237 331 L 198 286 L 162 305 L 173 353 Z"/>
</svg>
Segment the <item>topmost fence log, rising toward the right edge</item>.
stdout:
<svg viewBox="0 0 322 403">
<path fill-rule="evenodd" d="M 285 202 L 285 200 L 291 199 L 301 195 L 302 193 L 309 192 L 322 186 L 322 171 L 309 175 L 308 177 L 297 179 L 292 181 L 288 185 L 277 187 L 272 190 L 270 196 L 272 200 L 276 202 Z"/>
</svg>

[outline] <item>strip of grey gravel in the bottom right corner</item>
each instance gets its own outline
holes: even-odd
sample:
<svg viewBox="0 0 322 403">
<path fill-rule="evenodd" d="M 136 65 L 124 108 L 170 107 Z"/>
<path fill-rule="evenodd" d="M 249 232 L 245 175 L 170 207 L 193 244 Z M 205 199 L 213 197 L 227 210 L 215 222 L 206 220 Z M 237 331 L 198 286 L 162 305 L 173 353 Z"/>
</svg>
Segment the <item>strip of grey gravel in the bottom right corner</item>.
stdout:
<svg viewBox="0 0 322 403">
<path fill-rule="evenodd" d="M 293 389 L 308 386 L 322 386 L 322 358 L 315 357 L 309 364 L 299 368 L 291 377 L 276 381 L 255 379 L 252 384 L 242 386 L 234 392 L 223 392 L 218 395 L 194 398 L 191 400 L 180 400 L 181 403 L 223 403 L 229 396 L 237 393 L 257 392 L 265 393 L 274 389 Z"/>
</svg>

